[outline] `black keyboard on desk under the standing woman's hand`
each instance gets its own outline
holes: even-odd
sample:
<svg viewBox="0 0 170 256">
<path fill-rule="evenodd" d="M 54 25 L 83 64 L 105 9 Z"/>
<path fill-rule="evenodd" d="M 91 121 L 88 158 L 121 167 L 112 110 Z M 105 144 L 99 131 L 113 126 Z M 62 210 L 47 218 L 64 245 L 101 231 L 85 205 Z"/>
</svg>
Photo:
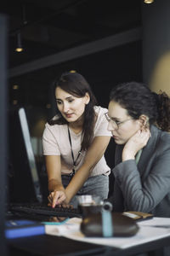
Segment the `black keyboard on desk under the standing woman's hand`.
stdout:
<svg viewBox="0 0 170 256">
<path fill-rule="evenodd" d="M 20 205 L 12 204 L 9 207 L 10 212 L 18 212 L 29 216 L 42 215 L 46 217 L 68 217 L 68 218 L 81 218 L 81 212 L 77 208 L 59 207 L 54 208 L 48 207 L 47 205 Z"/>
</svg>

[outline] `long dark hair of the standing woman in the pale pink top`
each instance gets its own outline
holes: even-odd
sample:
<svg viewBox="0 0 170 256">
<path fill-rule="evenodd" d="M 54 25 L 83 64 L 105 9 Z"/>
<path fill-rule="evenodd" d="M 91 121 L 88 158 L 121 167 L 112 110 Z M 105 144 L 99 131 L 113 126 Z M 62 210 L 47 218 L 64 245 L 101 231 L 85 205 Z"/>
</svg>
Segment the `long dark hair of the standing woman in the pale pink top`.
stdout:
<svg viewBox="0 0 170 256">
<path fill-rule="evenodd" d="M 95 112 L 94 105 L 97 101 L 88 84 L 87 80 L 77 72 L 65 72 L 62 73 L 61 77 L 54 81 L 54 89 L 57 87 L 65 90 L 76 97 L 83 97 L 88 93 L 90 101 L 85 106 L 84 111 L 84 122 L 82 125 L 82 149 L 88 149 L 94 136 L 94 123 L 95 123 Z M 67 120 L 62 116 L 57 109 L 58 119 L 51 119 L 48 121 L 49 125 L 64 125 L 68 124 Z"/>
</svg>

